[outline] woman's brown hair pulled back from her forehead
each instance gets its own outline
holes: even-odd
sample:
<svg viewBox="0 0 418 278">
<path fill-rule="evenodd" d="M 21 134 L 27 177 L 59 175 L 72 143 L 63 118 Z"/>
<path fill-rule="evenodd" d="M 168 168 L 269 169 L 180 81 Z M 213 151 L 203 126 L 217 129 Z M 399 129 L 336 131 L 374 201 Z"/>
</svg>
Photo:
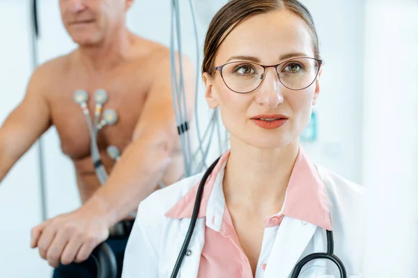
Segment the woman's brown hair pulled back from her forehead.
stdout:
<svg viewBox="0 0 418 278">
<path fill-rule="evenodd" d="M 203 52 L 202 72 L 213 74 L 215 56 L 219 45 L 229 33 L 248 17 L 261 15 L 274 10 L 288 10 L 306 22 L 311 31 L 314 43 L 315 58 L 320 58 L 319 39 L 309 10 L 297 0 L 231 0 L 226 3 L 210 22 Z"/>
</svg>

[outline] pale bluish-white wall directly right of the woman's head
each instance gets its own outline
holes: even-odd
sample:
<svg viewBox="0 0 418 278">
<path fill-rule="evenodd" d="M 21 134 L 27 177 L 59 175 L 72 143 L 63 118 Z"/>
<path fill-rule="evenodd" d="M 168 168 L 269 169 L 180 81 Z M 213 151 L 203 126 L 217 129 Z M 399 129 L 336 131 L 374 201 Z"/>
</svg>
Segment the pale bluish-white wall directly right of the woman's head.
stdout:
<svg viewBox="0 0 418 278">
<path fill-rule="evenodd" d="M 318 141 L 304 144 L 316 163 L 362 183 L 364 1 L 302 0 L 311 11 L 325 60 Z"/>
</svg>

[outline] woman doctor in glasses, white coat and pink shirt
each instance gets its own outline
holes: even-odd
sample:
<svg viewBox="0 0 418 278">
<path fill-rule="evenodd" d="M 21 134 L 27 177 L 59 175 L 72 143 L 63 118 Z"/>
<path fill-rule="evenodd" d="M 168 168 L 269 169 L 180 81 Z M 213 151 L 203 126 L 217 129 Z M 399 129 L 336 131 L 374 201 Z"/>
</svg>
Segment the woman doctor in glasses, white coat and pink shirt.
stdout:
<svg viewBox="0 0 418 278">
<path fill-rule="evenodd" d="M 124 278 L 362 277 L 363 189 L 300 146 L 322 65 L 314 21 L 297 0 L 219 10 L 202 70 L 231 149 L 206 174 L 141 202 Z"/>
</svg>

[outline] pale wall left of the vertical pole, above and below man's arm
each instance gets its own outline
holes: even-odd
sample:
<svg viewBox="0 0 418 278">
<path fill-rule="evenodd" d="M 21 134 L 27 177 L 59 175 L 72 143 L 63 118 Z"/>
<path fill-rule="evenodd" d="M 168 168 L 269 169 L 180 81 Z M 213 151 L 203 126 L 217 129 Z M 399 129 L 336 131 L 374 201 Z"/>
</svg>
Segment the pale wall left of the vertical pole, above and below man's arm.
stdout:
<svg viewBox="0 0 418 278">
<path fill-rule="evenodd" d="M 22 100 L 32 72 L 29 1 L 0 1 L 0 124 Z M 0 154 L 1 155 L 1 154 Z M 41 220 L 38 153 L 32 147 L 0 184 L 0 277 L 47 277 L 31 250 L 30 230 Z M 23 269 L 26 270 L 23 270 Z"/>
</svg>

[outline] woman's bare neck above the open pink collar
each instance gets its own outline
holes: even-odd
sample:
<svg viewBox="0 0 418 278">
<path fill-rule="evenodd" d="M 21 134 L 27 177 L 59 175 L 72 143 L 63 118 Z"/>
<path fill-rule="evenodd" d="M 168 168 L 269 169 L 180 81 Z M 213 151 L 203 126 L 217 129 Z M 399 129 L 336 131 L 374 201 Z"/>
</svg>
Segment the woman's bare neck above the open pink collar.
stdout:
<svg viewBox="0 0 418 278">
<path fill-rule="evenodd" d="M 298 152 L 299 140 L 279 149 L 259 149 L 231 137 L 224 174 L 226 204 L 278 213 Z"/>
</svg>

